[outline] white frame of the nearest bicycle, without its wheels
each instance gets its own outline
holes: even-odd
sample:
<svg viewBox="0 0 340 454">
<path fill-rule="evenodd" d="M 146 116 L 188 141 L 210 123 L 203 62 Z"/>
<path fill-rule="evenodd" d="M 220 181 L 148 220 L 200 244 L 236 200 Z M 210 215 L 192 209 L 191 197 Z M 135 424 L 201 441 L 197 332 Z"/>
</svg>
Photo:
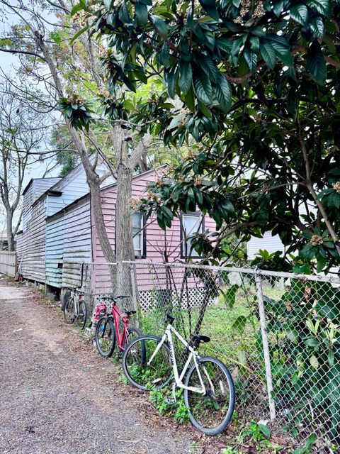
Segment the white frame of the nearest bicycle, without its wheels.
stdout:
<svg viewBox="0 0 340 454">
<path fill-rule="evenodd" d="M 174 344 L 172 343 L 172 333 L 174 333 L 174 335 L 176 336 L 176 338 L 179 339 L 179 341 L 181 341 L 181 343 L 183 343 L 183 345 L 188 348 L 189 350 L 189 356 L 188 356 L 188 360 L 186 360 L 186 364 L 184 365 L 183 367 L 183 370 L 181 371 L 181 375 L 179 375 L 179 369 L 177 367 L 177 362 L 176 362 L 176 355 L 175 355 L 175 350 L 174 350 Z M 197 360 L 200 358 L 198 353 L 196 352 L 196 350 L 194 350 L 191 345 L 189 345 L 186 340 L 184 338 L 182 338 L 181 334 L 179 334 L 176 329 L 171 325 L 171 323 L 169 323 L 168 326 L 166 326 L 166 330 L 164 332 L 164 335 L 162 336 L 162 340 L 159 342 L 159 344 L 157 345 L 156 349 L 154 350 L 154 353 L 152 353 L 152 356 L 151 358 L 149 359 L 149 361 L 147 362 L 147 365 L 150 365 L 152 360 L 154 359 L 154 357 L 157 355 L 157 353 L 159 352 L 159 349 L 162 347 L 162 345 L 164 344 L 165 341 L 168 341 L 168 344 L 169 344 L 169 348 L 170 348 L 170 353 L 171 353 L 171 364 L 172 364 L 172 367 L 174 369 L 174 378 L 175 378 L 175 382 L 176 382 L 176 386 L 179 387 L 179 388 L 183 388 L 183 389 L 188 389 L 188 391 L 193 391 L 193 392 L 198 392 L 199 394 L 205 394 L 205 386 L 204 386 L 204 383 L 203 383 L 203 380 L 202 380 L 202 376 L 200 375 L 200 370 L 198 368 L 198 362 Z M 191 363 L 191 360 L 193 360 L 195 366 L 196 366 L 196 371 L 197 371 L 197 375 L 198 375 L 198 378 L 200 379 L 200 384 L 201 384 L 201 388 L 196 388 L 196 387 L 188 387 L 186 386 L 185 384 L 183 384 L 183 377 L 184 375 L 186 375 L 186 371 L 188 370 L 188 367 Z M 210 377 L 209 377 L 209 374 L 208 372 L 205 370 L 205 367 L 203 367 L 203 370 L 205 372 L 205 375 L 207 376 L 208 378 L 208 382 L 210 384 L 210 387 L 212 389 L 214 389 L 213 385 L 212 385 L 212 382 L 210 380 Z"/>
</svg>

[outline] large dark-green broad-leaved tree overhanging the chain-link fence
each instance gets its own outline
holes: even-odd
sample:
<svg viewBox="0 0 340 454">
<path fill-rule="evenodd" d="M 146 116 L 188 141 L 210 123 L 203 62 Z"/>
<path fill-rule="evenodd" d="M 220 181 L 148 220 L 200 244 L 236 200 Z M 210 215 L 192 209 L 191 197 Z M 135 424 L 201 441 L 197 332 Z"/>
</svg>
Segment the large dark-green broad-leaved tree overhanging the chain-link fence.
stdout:
<svg viewBox="0 0 340 454">
<path fill-rule="evenodd" d="M 192 244 L 211 260 L 231 233 L 272 231 L 318 271 L 339 264 L 338 1 L 82 0 L 72 13 L 108 45 L 106 115 L 190 147 L 142 210 L 162 228 L 210 214 L 217 233 Z"/>
</svg>

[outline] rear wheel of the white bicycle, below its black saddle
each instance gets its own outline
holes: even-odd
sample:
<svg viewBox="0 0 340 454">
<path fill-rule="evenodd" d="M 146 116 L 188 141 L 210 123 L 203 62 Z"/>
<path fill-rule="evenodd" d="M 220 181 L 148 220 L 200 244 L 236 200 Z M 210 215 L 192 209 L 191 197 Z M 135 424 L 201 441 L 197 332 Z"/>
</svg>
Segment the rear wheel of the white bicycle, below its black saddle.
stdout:
<svg viewBox="0 0 340 454">
<path fill-rule="evenodd" d="M 210 365 L 209 370 L 207 370 L 208 365 Z M 212 367 L 212 365 L 214 365 L 214 367 Z M 198 367 L 200 367 L 200 374 L 207 389 L 207 394 L 203 396 L 197 392 L 184 389 L 184 404 L 188 407 L 188 416 L 193 426 L 205 433 L 205 435 L 217 435 L 217 433 L 225 430 L 232 419 L 235 406 L 234 382 L 227 366 L 217 358 L 203 356 L 198 359 Z M 215 380 L 215 374 L 217 374 L 215 369 L 220 374 L 217 377 L 216 382 L 216 384 L 218 384 L 219 392 L 217 392 L 217 386 L 215 386 L 214 389 L 211 389 L 210 386 L 212 380 Z M 207 373 L 210 380 L 208 380 Z M 200 387 L 196 365 L 193 365 L 188 371 L 184 384 L 186 386 Z M 226 384 L 228 389 L 226 388 Z M 225 409 L 225 416 L 223 416 L 223 414 L 221 415 L 221 406 L 222 408 L 225 408 L 226 405 L 227 409 Z M 200 411 L 200 417 L 198 416 L 198 411 Z M 211 421 L 213 417 L 217 419 L 216 426 L 211 427 L 212 423 L 208 426 L 208 422 Z"/>
</svg>

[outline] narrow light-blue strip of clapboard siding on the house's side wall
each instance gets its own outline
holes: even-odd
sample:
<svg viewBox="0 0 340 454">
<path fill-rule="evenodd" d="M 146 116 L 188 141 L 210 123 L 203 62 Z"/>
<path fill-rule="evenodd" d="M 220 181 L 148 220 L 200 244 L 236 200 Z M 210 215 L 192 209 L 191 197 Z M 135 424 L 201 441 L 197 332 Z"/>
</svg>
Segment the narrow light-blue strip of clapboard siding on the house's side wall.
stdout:
<svg viewBox="0 0 340 454">
<path fill-rule="evenodd" d="M 62 286 L 64 255 L 64 214 L 46 222 L 46 284 Z"/>
</svg>

